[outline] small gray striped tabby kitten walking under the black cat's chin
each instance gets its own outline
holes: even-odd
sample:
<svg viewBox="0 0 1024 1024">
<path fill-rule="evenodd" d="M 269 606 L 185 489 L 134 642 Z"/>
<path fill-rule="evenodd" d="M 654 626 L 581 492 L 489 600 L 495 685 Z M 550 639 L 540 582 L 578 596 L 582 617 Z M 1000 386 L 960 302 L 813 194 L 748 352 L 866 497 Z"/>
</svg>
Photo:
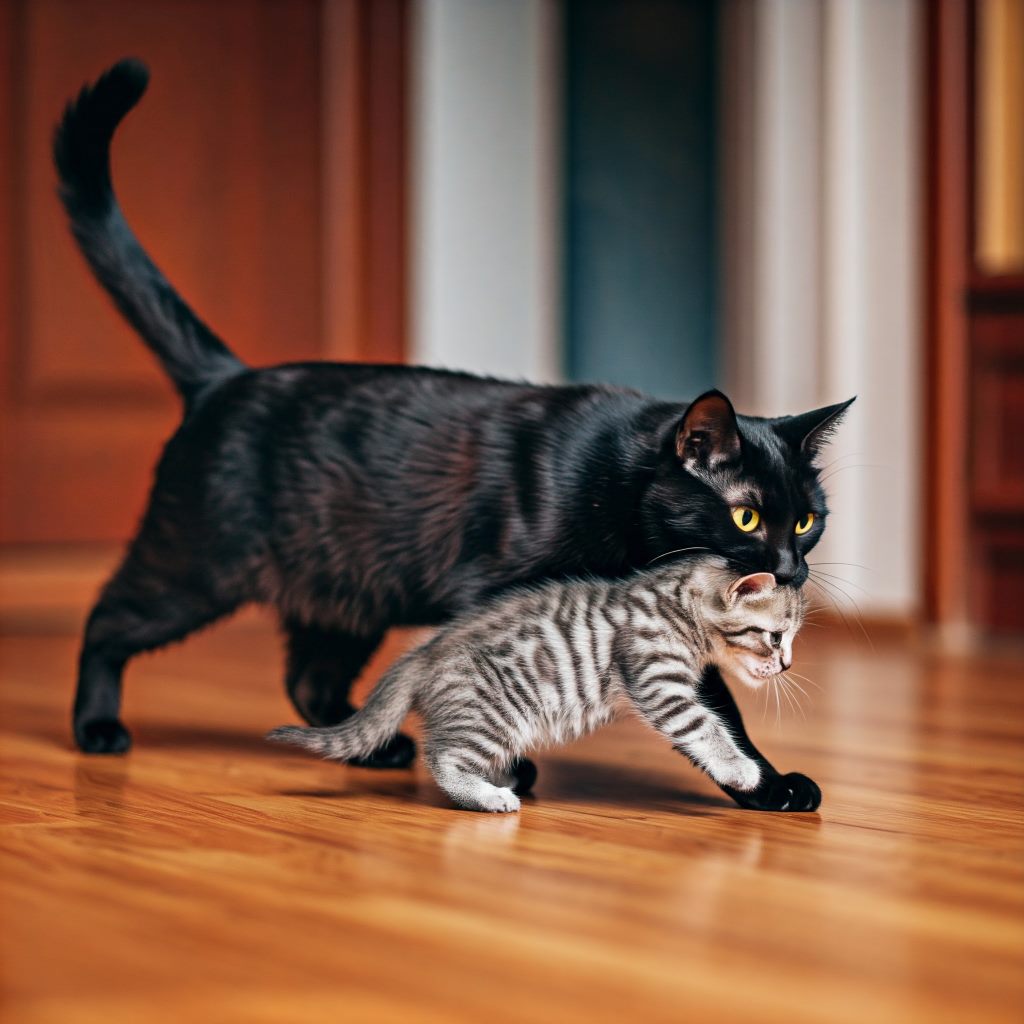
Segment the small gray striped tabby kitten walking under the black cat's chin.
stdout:
<svg viewBox="0 0 1024 1024">
<path fill-rule="evenodd" d="M 620 581 L 546 584 L 442 629 L 395 663 L 340 725 L 284 726 L 268 738 L 352 760 L 415 710 L 427 763 L 452 800 L 516 811 L 508 769 L 517 758 L 590 732 L 626 706 L 742 806 L 814 810 L 818 787 L 779 775 L 758 753 L 714 668 L 764 685 L 790 668 L 803 615 L 799 590 L 776 587 L 767 572 L 736 579 L 717 557 Z"/>
</svg>

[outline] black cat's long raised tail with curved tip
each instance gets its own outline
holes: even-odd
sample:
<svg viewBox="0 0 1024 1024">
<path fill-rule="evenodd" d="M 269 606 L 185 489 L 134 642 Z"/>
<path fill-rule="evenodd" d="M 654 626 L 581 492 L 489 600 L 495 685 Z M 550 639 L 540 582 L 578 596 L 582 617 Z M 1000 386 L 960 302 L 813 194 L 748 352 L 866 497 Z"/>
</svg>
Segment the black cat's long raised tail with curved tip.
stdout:
<svg viewBox="0 0 1024 1024">
<path fill-rule="evenodd" d="M 60 200 L 96 280 L 156 353 L 187 407 L 206 387 L 244 371 L 188 308 L 138 244 L 111 184 L 111 139 L 138 102 L 150 72 L 121 60 L 65 110 L 53 136 Z"/>
</svg>

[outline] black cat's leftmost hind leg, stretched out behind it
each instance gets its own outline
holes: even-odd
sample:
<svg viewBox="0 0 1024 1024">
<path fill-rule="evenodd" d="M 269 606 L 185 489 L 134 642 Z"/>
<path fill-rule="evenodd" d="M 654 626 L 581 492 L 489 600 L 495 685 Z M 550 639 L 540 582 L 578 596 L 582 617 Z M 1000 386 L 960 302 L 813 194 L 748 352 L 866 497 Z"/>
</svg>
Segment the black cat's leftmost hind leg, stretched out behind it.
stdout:
<svg viewBox="0 0 1024 1024">
<path fill-rule="evenodd" d="M 166 561 L 166 559 L 165 559 Z M 89 614 L 79 656 L 73 723 L 87 754 L 123 754 L 121 677 L 135 654 L 181 640 L 233 611 L 238 602 L 168 580 L 129 554 Z"/>
</svg>

